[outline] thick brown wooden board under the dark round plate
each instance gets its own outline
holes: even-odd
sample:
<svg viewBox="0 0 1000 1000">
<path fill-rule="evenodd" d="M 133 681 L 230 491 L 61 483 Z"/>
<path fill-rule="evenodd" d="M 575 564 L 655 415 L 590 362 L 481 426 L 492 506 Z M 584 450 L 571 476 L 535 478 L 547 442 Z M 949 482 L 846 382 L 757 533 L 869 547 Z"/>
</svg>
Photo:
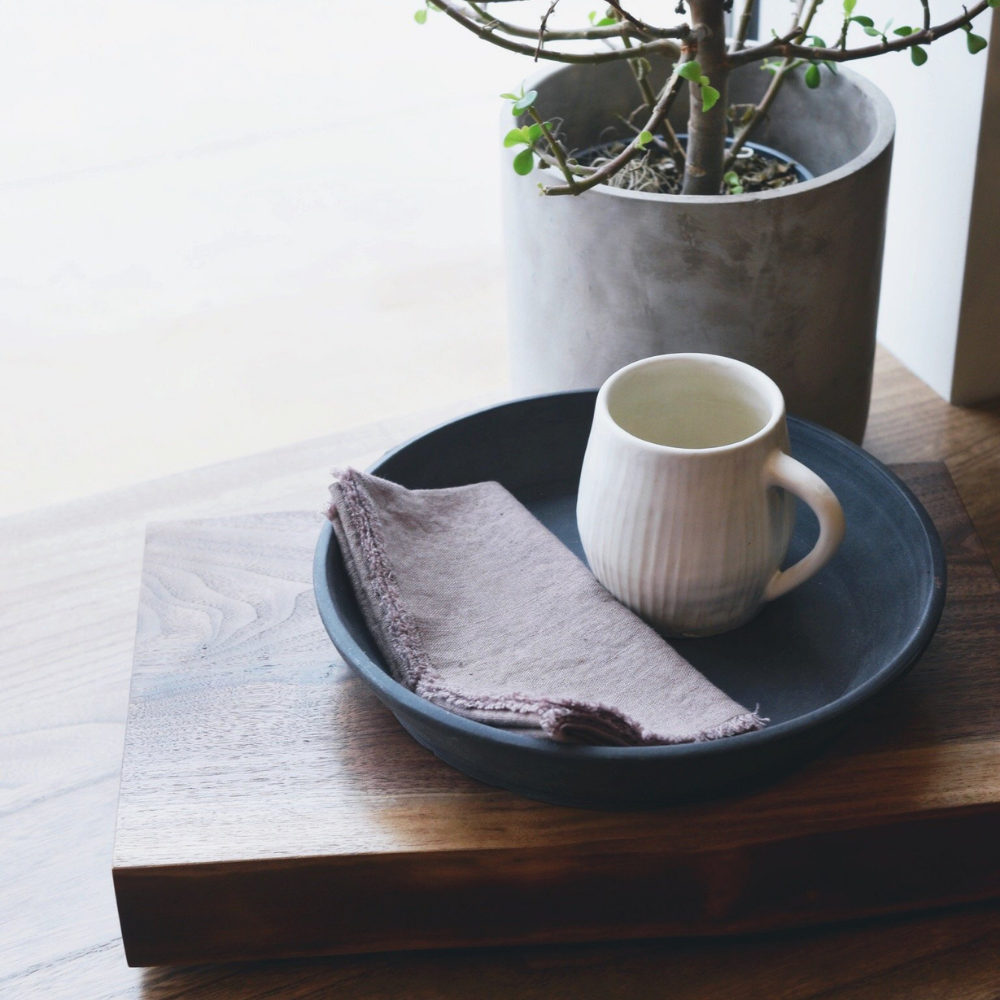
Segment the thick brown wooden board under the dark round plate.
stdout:
<svg viewBox="0 0 1000 1000">
<path fill-rule="evenodd" d="M 317 515 L 153 525 L 114 850 L 132 965 L 723 934 L 1000 896 L 1000 585 L 942 464 L 897 467 L 949 593 L 907 678 L 763 790 L 557 808 L 418 746 L 316 614 Z"/>
</svg>

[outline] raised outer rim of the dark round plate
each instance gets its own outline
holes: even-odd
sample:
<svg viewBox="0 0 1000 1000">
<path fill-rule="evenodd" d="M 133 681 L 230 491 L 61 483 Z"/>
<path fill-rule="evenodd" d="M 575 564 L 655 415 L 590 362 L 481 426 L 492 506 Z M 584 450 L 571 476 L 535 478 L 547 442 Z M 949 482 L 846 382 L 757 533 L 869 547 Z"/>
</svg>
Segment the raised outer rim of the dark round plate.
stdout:
<svg viewBox="0 0 1000 1000">
<path fill-rule="evenodd" d="M 575 397 L 582 400 L 587 396 L 596 400 L 597 390 L 573 389 L 564 392 L 541 393 L 481 407 L 452 420 L 443 421 L 434 427 L 413 435 L 386 451 L 366 471 L 372 475 L 378 475 L 380 467 L 418 441 L 446 428 L 453 428 L 466 421 L 476 420 L 488 413 L 519 409 L 525 405 L 538 404 L 543 401 L 555 401 L 567 397 Z M 822 427 L 801 417 L 789 415 L 787 419 L 789 424 L 804 428 L 807 433 L 818 435 L 821 440 L 825 440 L 825 443 L 831 449 L 846 452 L 854 460 L 863 462 L 871 473 L 885 480 L 890 487 L 902 496 L 923 530 L 923 539 L 930 554 L 930 563 L 934 580 L 936 581 L 936 584 L 932 585 L 930 589 L 928 601 L 921 609 L 918 624 L 913 629 L 909 640 L 897 655 L 885 667 L 858 687 L 851 689 L 846 694 L 841 695 L 831 702 L 827 702 L 825 705 L 821 705 L 819 708 L 813 709 L 811 712 L 807 712 L 805 715 L 799 715 L 794 719 L 789 719 L 773 726 L 765 726 L 763 729 L 758 729 L 750 733 L 742 733 L 739 736 L 727 739 L 642 747 L 608 747 L 557 743 L 554 740 L 539 740 L 535 737 L 525 736 L 514 730 L 490 726 L 487 723 L 477 722 L 474 719 L 467 719 L 454 712 L 449 712 L 447 709 L 441 708 L 433 702 L 427 701 L 425 698 L 421 698 L 418 694 L 415 694 L 409 688 L 394 680 L 379 664 L 372 661 L 368 654 L 354 641 L 346 623 L 340 615 L 337 605 L 333 601 L 329 586 L 327 585 L 327 565 L 333 548 L 334 535 L 329 520 L 325 519 L 320 529 L 313 557 L 313 590 L 323 625 L 337 651 L 344 658 L 345 663 L 365 683 L 375 690 L 375 693 L 379 696 L 380 700 L 387 704 L 390 711 L 394 710 L 393 701 L 401 702 L 408 711 L 416 715 L 426 716 L 429 720 L 445 728 L 458 730 L 463 735 L 475 739 L 486 739 L 504 743 L 519 750 L 542 756 L 555 755 L 561 758 L 579 756 L 588 759 L 610 760 L 641 757 L 648 760 L 659 757 L 682 759 L 692 755 L 725 755 L 738 753 L 741 748 L 749 750 L 751 747 L 764 747 L 771 743 L 794 739 L 804 731 L 814 729 L 817 726 L 834 724 L 837 719 L 859 709 L 865 702 L 874 698 L 880 691 L 899 679 L 916 663 L 927 649 L 937 629 L 941 614 L 944 611 L 947 594 L 947 561 L 941 537 L 934 522 L 931 520 L 923 504 L 899 476 L 875 458 L 874 455 L 865 451 L 859 445 L 854 444 L 853 441 L 849 441 L 840 434 L 837 434 L 835 431 L 831 431 L 826 427 Z"/>
</svg>

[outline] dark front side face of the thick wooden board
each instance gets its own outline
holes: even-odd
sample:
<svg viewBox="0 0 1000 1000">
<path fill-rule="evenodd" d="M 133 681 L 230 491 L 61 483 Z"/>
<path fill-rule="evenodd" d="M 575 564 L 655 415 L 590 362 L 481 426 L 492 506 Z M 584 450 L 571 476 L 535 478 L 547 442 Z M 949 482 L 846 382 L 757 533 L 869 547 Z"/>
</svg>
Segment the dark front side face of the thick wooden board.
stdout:
<svg viewBox="0 0 1000 1000">
<path fill-rule="evenodd" d="M 129 964 L 178 965 L 719 936 L 950 906 L 1000 898 L 997 843 L 1000 805 L 705 853 L 586 844 L 113 877 Z"/>
</svg>

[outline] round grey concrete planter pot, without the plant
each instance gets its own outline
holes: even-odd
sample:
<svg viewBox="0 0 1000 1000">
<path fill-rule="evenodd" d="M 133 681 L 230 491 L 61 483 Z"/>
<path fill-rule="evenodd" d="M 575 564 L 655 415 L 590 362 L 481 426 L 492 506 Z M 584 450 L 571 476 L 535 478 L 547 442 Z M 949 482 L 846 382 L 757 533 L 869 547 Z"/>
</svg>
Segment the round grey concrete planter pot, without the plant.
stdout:
<svg viewBox="0 0 1000 1000">
<path fill-rule="evenodd" d="M 756 101 L 768 79 L 738 70 L 730 101 Z M 572 149 L 600 141 L 636 104 L 622 64 L 559 67 L 530 86 Z M 674 108 L 678 131 L 686 104 L 681 95 Z M 685 197 L 602 185 L 545 198 L 538 182 L 556 182 L 553 171 L 519 177 L 505 163 L 515 392 L 596 387 L 639 358 L 703 351 L 762 369 L 790 413 L 860 441 L 894 132 L 885 95 L 841 70 L 815 91 L 786 81 L 754 136 L 815 175 L 782 190 Z"/>
</svg>

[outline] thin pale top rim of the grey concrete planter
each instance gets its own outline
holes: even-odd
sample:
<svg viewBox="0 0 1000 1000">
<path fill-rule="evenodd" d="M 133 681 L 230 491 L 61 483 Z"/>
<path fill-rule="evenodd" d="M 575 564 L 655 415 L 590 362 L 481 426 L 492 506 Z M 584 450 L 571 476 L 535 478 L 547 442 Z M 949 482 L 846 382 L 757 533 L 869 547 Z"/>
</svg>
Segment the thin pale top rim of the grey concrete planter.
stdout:
<svg viewBox="0 0 1000 1000">
<path fill-rule="evenodd" d="M 536 90 L 542 86 L 549 77 L 555 76 L 570 69 L 566 65 L 554 65 L 539 70 L 529 77 L 524 84 L 525 91 Z M 777 198 L 794 197 L 797 194 L 806 194 L 838 181 L 851 174 L 857 173 L 877 159 L 886 148 L 892 143 L 896 133 L 896 113 L 892 109 L 889 98 L 875 86 L 866 76 L 862 76 L 855 70 L 845 66 L 838 67 L 838 74 L 846 77 L 872 102 L 875 108 L 875 135 L 868 145 L 853 159 L 847 163 L 831 170 L 829 173 L 820 174 L 809 181 L 799 181 L 798 184 L 790 184 L 788 187 L 776 188 L 773 191 L 757 191 L 750 194 L 657 194 L 651 191 L 628 191 L 625 188 L 612 187 L 610 184 L 598 184 L 592 187 L 587 194 L 600 194 L 610 198 L 623 198 L 631 201 L 651 201 L 658 203 L 670 203 L 679 205 L 732 205 L 750 204 L 759 201 L 773 201 Z"/>
</svg>

